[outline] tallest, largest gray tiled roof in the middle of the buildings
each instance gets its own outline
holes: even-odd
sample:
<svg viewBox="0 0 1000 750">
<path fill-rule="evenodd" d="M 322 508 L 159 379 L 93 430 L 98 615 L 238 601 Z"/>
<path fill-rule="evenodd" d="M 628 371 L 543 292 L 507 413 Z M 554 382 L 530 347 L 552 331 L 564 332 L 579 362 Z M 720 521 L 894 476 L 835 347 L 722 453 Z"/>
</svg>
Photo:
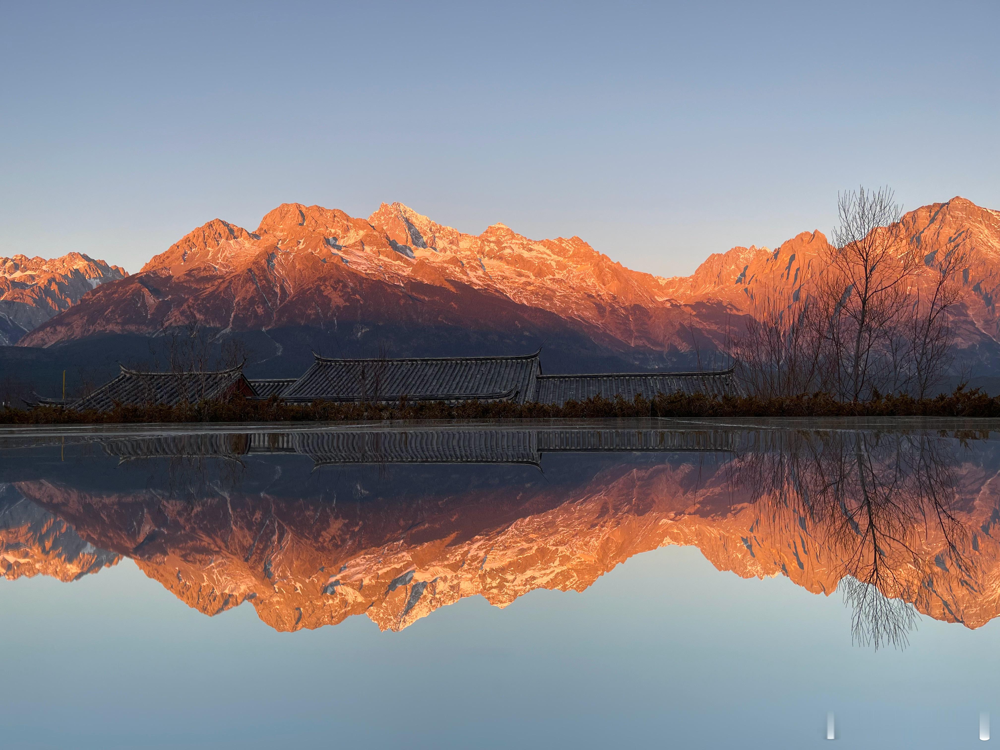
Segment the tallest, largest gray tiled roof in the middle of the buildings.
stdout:
<svg viewBox="0 0 1000 750">
<path fill-rule="evenodd" d="M 530 400 L 541 372 L 538 352 L 517 357 L 329 359 L 316 356 L 284 392 L 290 401 Z"/>
</svg>

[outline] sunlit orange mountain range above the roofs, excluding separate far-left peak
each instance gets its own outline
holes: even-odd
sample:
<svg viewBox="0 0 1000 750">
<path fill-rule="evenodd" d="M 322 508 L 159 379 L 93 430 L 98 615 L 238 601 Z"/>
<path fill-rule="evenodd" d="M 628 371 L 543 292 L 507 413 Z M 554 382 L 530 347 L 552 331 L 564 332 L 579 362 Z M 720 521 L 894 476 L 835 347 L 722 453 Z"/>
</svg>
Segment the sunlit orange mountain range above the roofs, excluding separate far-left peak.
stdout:
<svg viewBox="0 0 1000 750">
<path fill-rule="evenodd" d="M 956 237 L 971 250 L 951 311 L 956 345 L 977 374 L 1000 372 L 1000 213 L 953 198 L 903 223 L 928 263 Z M 794 292 L 825 242 L 804 232 L 776 250 L 737 247 L 690 277 L 661 278 L 579 237 L 531 240 L 503 224 L 464 234 L 399 203 L 367 219 L 284 204 L 252 232 L 219 219 L 199 227 L 139 273 L 39 319 L 18 343 L 136 361 L 148 337 L 198 322 L 241 337 L 251 372 L 272 376 L 300 374 L 310 349 L 455 355 L 544 344 L 550 372 L 711 366 L 752 300 Z"/>
</svg>

